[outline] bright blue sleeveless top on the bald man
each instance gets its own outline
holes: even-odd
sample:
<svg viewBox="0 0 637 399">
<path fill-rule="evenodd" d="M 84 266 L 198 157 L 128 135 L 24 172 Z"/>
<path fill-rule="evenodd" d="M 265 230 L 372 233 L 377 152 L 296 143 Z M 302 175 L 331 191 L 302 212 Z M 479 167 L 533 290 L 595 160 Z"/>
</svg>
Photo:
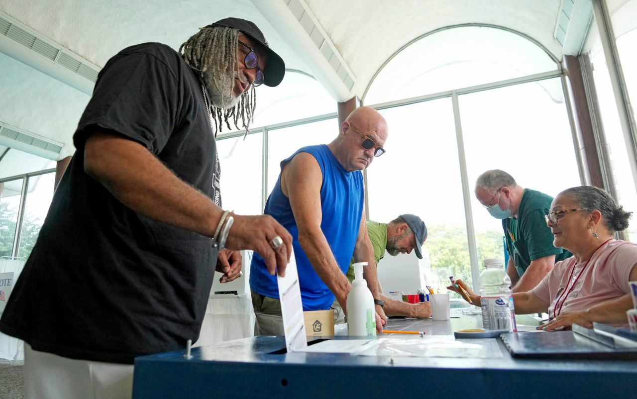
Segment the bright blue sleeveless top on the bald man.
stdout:
<svg viewBox="0 0 637 399">
<path fill-rule="evenodd" d="M 292 157 L 281 162 L 281 170 L 299 152 L 306 152 L 316 158 L 323 175 L 320 188 L 322 210 L 321 230 L 336 258 L 343 274 L 347 273 L 354 254 L 356 238 L 361 225 L 364 192 L 361 171 L 348 172 L 326 144 L 307 146 L 296 151 Z M 299 271 L 301 300 L 304 311 L 329 309 L 334 302 L 334 294 L 314 271 L 310 260 L 299 244 L 299 230 L 294 221 L 290 200 L 281 191 L 281 174 L 276 181 L 264 214 L 276 219 L 292 235 L 292 246 L 296 255 L 296 267 Z M 255 253 L 250 265 L 250 288 L 255 293 L 270 298 L 278 298 L 276 276 L 268 274 L 266 264 Z"/>
</svg>

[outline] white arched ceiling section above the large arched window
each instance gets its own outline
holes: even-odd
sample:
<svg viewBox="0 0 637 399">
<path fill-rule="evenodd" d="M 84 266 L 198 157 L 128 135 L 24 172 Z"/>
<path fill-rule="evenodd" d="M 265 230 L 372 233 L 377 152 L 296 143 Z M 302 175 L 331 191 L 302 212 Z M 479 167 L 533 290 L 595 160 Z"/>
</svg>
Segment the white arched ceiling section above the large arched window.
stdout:
<svg viewBox="0 0 637 399">
<path fill-rule="evenodd" d="M 354 72 L 362 95 L 373 75 L 403 45 L 462 24 L 501 26 L 533 38 L 562 59 L 553 37 L 560 0 L 307 0 Z"/>
</svg>

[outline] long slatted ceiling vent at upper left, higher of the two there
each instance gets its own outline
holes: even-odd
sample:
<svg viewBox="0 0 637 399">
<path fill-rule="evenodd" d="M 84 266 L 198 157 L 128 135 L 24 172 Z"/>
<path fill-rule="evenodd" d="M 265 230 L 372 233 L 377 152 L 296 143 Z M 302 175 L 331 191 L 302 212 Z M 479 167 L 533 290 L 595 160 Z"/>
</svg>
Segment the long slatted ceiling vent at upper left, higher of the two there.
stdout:
<svg viewBox="0 0 637 399">
<path fill-rule="evenodd" d="M 38 35 L 38 33 L 31 31 L 29 27 L 21 24 L 17 20 L 14 20 L 4 13 L 0 13 L 0 38 L 1 36 L 5 36 L 15 41 L 15 43 L 21 45 L 22 50 L 27 52 L 27 54 L 20 54 L 19 51 L 16 51 L 15 46 L 11 46 L 11 48 L 0 46 L 1 51 L 83 92 L 87 92 L 88 90 L 90 94 L 97 80 L 99 67 L 90 64 L 87 60 L 75 55 L 61 45 Z M 66 69 L 66 72 L 70 72 L 75 78 L 71 78 L 71 81 L 69 81 L 67 76 L 59 76 L 55 71 L 43 70 L 41 67 L 42 62 L 33 62 L 33 55 L 36 55 L 40 60 L 46 60 L 50 65 L 54 64 L 55 66 Z M 47 68 L 44 67 L 44 69 Z M 77 87 L 78 85 L 74 84 L 73 80 L 80 80 L 85 83 L 80 83 L 80 87 Z"/>
</svg>

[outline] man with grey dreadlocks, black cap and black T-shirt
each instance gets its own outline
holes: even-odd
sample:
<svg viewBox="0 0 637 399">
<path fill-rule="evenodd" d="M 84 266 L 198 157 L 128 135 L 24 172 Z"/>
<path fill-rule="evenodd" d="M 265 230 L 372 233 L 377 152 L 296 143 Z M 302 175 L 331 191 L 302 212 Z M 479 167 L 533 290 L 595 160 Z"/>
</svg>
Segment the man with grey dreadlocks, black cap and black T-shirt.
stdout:
<svg viewBox="0 0 637 399">
<path fill-rule="evenodd" d="M 136 356 L 199 337 L 215 263 L 222 283 L 239 276 L 240 249 L 284 272 L 287 230 L 222 209 L 215 144 L 224 123 L 248 128 L 254 87 L 284 73 L 261 31 L 237 18 L 180 53 L 145 43 L 106 63 L 0 320 L 25 341 L 28 397 L 131 397 Z"/>
</svg>

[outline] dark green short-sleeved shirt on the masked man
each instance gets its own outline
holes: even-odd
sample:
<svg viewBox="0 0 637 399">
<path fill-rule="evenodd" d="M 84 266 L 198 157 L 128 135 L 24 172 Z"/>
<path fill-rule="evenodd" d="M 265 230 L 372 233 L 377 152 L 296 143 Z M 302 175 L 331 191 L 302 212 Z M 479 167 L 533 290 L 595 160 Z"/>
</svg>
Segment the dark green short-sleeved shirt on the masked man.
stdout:
<svg viewBox="0 0 637 399">
<path fill-rule="evenodd" d="M 524 189 L 517 218 L 502 221 L 506 251 L 513 259 L 518 275 L 526 272 L 532 260 L 555 255 L 555 262 L 573 256 L 566 249 L 553 246 L 553 234 L 544 215 L 548 214 L 553 197 L 535 190 Z"/>
</svg>

